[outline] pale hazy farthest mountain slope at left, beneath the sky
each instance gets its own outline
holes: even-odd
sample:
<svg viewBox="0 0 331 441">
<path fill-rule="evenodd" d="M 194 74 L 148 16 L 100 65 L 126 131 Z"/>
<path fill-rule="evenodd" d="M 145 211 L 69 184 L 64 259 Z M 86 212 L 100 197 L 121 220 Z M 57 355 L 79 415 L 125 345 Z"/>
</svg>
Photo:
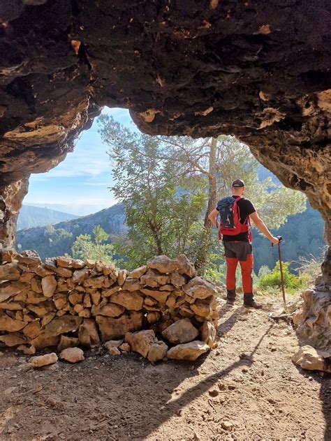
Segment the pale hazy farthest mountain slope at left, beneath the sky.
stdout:
<svg viewBox="0 0 331 441">
<path fill-rule="evenodd" d="M 43 225 L 48 225 L 50 223 L 71 221 L 71 219 L 75 218 L 78 218 L 78 216 L 63 213 L 62 211 L 23 204 L 17 219 L 17 230 L 42 227 Z"/>
</svg>

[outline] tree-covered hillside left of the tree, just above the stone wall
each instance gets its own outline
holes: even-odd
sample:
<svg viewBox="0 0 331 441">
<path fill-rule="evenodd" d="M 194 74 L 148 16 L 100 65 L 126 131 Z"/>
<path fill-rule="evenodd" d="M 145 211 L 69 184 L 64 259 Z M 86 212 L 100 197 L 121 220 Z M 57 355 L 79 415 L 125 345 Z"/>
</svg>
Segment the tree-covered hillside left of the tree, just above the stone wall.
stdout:
<svg viewBox="0 0 331 441">
<path fill-rule="evenodd" d="M 110 241 L 126 233 L 125 210 L 123 204 L 98 211 L 89 216 L 71 221 L 45 225 L 25 230 L 16 234 L 16 248 L 36 250 L 42 259 L 71 253 L 71 246 L 80 234 L 91 234 L 96 225 L 110 235 Z"/>
</svg>

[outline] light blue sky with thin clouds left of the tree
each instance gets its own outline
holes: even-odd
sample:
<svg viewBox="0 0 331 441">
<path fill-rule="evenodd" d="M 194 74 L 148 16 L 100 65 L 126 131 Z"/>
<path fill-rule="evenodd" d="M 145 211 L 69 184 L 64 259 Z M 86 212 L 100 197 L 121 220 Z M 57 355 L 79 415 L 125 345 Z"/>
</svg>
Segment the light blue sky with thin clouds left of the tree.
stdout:
<svg viewBox="0 0 331 441">
<path fill-rule="evenodd" d="M 126 109 L 108 109 L 124 126 L 137 130 Z M 80 134 L 75 149 L 57 167 L 46 173 L 31 174 L 24 204 L 38 204 L 73 214 L 95 213 L 117 201 L 110 192 L 112 169 L 107 146 L 101 142 L 96 119 Z"/>
</svg>

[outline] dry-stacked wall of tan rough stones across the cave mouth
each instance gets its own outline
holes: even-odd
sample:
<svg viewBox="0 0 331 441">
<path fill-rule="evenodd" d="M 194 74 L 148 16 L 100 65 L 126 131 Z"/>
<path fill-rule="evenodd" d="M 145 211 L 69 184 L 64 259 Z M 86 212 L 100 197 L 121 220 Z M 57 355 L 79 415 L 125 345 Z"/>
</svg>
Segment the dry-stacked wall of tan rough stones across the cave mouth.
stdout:
<svg viewBox="0 0 331 441">
<path fill-rule="evenodd" d="M 163 347 L 170 358 L 185 357 L 177 354 L 180 347 L 159 343 L 157 334 L 170 346 L 190 343 L 198 352 L 214 345 L 216 287 L 196 276 L 185 255 L 154 257 L 131 273 L 70 257 L 43 263 L 34 251 L 5 249 L 0 257 L 0 341 L 27 354 L 124 337 L 133 349 L 136 336 L 129 333 L 140 329 L 149 329 L 154 351 Z"/>
</svg>

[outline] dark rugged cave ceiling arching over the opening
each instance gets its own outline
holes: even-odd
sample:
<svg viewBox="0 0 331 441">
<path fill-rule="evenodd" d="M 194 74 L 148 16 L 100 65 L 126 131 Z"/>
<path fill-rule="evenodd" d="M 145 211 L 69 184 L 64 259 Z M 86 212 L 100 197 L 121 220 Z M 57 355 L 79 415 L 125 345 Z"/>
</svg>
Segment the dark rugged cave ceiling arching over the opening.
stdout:
<svg viewBox="0 0 331 441">
<path fill-rule="evenodd" d="M 107 105 L 151 135 L 235 135 L 330 220 L 330 0 L 1 0 L 0 22 L 3 191 Z"/>
</svg>

